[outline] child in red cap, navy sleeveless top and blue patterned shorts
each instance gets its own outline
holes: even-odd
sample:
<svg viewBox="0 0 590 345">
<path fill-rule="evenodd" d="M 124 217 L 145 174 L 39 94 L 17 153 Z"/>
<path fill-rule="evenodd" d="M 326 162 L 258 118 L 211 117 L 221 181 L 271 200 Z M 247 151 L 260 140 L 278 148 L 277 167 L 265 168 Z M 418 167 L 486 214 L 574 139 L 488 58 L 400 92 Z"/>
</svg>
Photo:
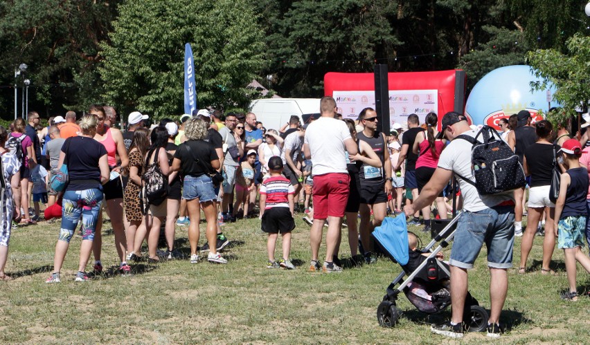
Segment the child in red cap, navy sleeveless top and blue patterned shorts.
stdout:
<svg viewBox="0 0 590 345">
<path fill-rule="evenodd" d="M 584 247 L 586 230 L 586 195 L 588 193 L 588 171 L 580 167 L 582 145 L 578 140 L 566 140 L 560 151 L 567 171 L 561 176 L 560 196 L 555 202 L 555 235 L 558 246 L 563 248 L 569 290 L 562 294 L 566 301 L 578 301 L 575 284 L 575 261 L 590 273 L 590 258 L 580 248 Z M 561 158 L 561 157 L 560 157 Z"/>
</svg>

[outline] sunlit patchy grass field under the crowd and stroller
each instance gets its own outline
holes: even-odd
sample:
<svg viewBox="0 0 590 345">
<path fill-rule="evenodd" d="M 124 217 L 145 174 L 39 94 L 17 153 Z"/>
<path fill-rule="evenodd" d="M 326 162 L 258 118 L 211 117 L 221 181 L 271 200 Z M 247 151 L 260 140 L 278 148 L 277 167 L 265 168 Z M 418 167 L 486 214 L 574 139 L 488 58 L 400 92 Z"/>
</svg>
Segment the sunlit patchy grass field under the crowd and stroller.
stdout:
<svg viewBox="0 0 590 345">
<path fill-rule="evenodd" d="M 447 319 L 418 313 L 405 297 L 404 313 L 395 328 L 377 324 L 375 312 L 388 283 L 400 272 L 388 259 L 349 268 L 341 274 L 307 272 L 309 227 L 298 217 L 292 258 L 294 271 L 266 268 L 266 236 L 258 219 L 224 227 L 233 241 L 226 250 L 228 265 L 203 261 L 168 261 L 134 265 L 132 277 L 113 274 L 114 236 L 103 238 L 103 277 L 73 281 L 80 236 L 72 240 L 62 270 L 62 283 L 44 283 L 53 265 L 59 231 L 55 224 L 15 230 L 6 272 L 14 280 L 0 283 L 1 343 L 373 343 L 447 342 L 432 335 L 429 324 Z M 419 232 L 418 227 L 411 230 Z M 343 230 L 346 239 L 346 229 Z M 203 239 L 203 235 L 202 235 Z M 423 237 L 427 241 L 426 237 Z M 202 240 L 203 241 L 203 240 Z M 202 244 L 201 243 L 199 244 Z M 186 227 L 177 227 L 177 243 L 188 253 Z M 515 243 L 519 254 L 520 239 Z M 560 299 L 566 288 L 563 253 L 555 250 L 555 277 L 540 272 L 542 238 L 535 239 L 530 272 L 510 270 L 508 299 L 502 321 L 508 324 L 505 343 L 584 343 L 590 327 L 590 299 Z M 343 245 L 342 257 L 348 255 Z M 280 248 L 280 240 L 278 243 Z M 325 248 L 322 248 L 325 250 Z M 279 252 L 277 251 L 277 254 Z M 449 250 L 445 252 L 448 257 Z M 515 256 L 516 259 L 516 256 Z M 532 261 L 531 261 L 532 260 Z M 590 290 L 589 274 L 578 270 L 578 291 Z M 470 291 L 489 308 L 489 275 L 485 248 L 470 271 Z M 465 342 L 491 342 L 485 333 L 470 333 Z"/>
</svg>

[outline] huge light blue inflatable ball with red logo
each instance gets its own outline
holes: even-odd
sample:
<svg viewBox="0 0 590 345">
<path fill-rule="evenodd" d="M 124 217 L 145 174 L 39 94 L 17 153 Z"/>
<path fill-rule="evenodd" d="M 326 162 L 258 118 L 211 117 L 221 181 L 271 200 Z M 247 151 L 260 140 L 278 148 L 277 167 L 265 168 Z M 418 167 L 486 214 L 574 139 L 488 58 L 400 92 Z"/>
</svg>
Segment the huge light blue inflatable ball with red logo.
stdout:
<svg viewBox="0 0 590 345">
<path fill-rule="evenodd" d="M 501 118 L 526 109 L 533 116 L 533 122 L 542 120 L 539 109 L 548 111 L 550 107 L 559 106 L 552 102 L 555 86 L 549 84 L 545 91 L 531 91 L 530 82 L 540 79 L 526 65 L 506 66 L 494 69 L 475 84 L 465 104 L 465 114 L 472 124 L 488 124 L 500 129 Z"/>
</svg>

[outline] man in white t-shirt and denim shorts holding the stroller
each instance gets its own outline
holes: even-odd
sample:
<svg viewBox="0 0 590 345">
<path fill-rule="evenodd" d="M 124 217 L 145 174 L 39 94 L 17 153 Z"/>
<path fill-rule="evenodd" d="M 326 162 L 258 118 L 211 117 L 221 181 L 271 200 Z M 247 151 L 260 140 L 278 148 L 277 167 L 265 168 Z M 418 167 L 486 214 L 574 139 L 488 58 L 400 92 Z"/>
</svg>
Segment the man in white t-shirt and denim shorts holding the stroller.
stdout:
<svg viewBox="0 0 590 345">
<path fill-rule="evenodd" d="M 470 142 L 471 139 L 463 139 L 465 136 L 476 138 L 476 135 L 476 131 L 470 129 L 465 115 L 455 112 L 445 114 L 442 118 L 440 136 L 446 136 L 452 142 L 440 153 L 438 167 L 429 183 L 422 189 L 420 196 L 411 205 L 404 207 L 406 216 L 411 216 L 416 209 L 431 205 L 436 196 L 447 186 L 453 174 L 458 177 L 463 194 L 463 211 L 457 222 L 449 261 L 452 318 L 445 324 L 431 326 L 433 333 L 454 338 L 463 337 L 463 311 L 469 280 L 467 270 L 473 268 L 483 243 L 485 242 L 488 248 L 488 267 L 491 275 L 488 337 L 496 338 L 501 335 L 499 317 L 508 291 L 507 271 L 512 267 L 512 247 L 515 236 L 513 193 L 512 191 L 499 194 L 480 193 L 481 181 L 474 178 L 474 172 L 486 168 L 487 165 L 482 164 L 481 167 L 474 165 L 472 169 L 474 144 Z M 463 138 L 453 140 L 458 136 Z M 480 138 L 481 136 L 476 139 Z"/>
</svg>

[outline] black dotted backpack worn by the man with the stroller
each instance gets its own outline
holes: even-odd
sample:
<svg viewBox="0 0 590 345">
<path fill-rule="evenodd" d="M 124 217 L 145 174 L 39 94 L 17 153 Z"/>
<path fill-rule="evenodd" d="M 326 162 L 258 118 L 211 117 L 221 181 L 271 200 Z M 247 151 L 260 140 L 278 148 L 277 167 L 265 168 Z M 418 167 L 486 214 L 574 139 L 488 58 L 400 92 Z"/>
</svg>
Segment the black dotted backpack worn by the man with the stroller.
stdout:
<svg viewBox="0 0 590 345">
<path fill-rule="evenodd" d="M 483 142 L 477 141 L 479 136 L 483 137 Z M 475 182 L 459 174 L 456 175 L 474 185 L 479 194 L 498 194 L 526 185 L 524 169 L 518 156 L 492 127 L 484 126 L 475 138 L 461 134 L 455 139 L 467 140 L 473 145 L 471 160 Z"/>
</svg>

